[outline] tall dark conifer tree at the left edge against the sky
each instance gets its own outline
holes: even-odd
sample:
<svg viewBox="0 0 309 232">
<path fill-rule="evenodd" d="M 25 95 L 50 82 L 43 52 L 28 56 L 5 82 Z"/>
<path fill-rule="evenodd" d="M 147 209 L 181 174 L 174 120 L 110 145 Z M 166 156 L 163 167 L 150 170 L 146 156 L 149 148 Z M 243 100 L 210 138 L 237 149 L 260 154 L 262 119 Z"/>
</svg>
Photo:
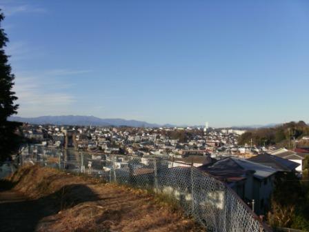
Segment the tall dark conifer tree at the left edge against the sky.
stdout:
<svg viewBox="0 0 309 232">
<path fill-rule="evenodd" d="M 8 122 L 10 115 L 17 113 L 18 105 L 14 104 L 17 97 L 12 92 L 14 85 L 14 75 L 11 66 L 8 64 L 8 56 L 4 48 L 8 42 L 6 33 L 1 28 L 1 21 L 4 16 L 0 10 L 0 160 L 5 160 L 17 149 L 17 139 L 15 131 L 19 124 Z"/>
</svg>

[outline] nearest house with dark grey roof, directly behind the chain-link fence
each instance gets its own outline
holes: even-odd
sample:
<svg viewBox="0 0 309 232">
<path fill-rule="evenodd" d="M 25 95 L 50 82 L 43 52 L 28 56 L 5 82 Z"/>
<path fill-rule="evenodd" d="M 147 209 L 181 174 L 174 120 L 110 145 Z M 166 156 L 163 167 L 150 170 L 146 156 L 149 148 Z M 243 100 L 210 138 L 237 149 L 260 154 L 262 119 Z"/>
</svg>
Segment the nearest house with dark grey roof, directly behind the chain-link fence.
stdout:
<svg viewBox="0 0 309 232">
<path fill-rule="evenodd" d="M 227 157 L 211 166 L 200 166 L 199 170 L 226 182 L 246 203 L 255 200 L 255 213 L 258 215 L 268 210 L 277 172 L 274 168 L 249 160 Z"/>
</svg>

